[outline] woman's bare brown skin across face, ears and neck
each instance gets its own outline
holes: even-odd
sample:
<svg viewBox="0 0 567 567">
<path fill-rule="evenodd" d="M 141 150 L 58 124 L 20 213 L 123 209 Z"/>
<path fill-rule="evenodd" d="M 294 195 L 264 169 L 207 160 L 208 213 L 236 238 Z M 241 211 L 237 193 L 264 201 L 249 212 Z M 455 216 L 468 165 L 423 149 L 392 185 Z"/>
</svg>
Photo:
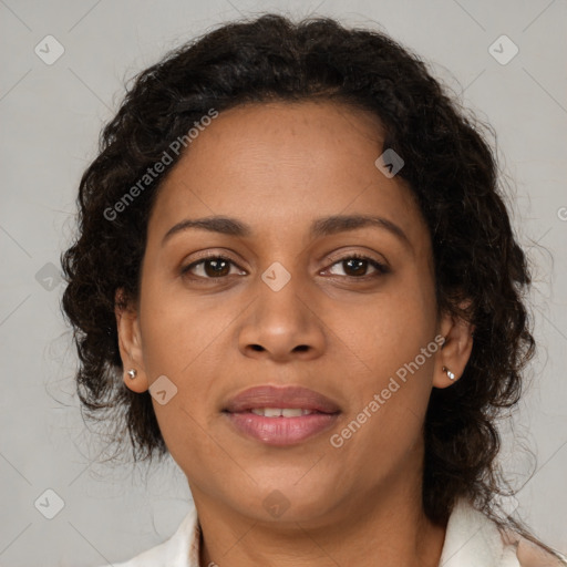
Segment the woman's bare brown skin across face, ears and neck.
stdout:
<svg viewBox="0 0 567 567">
<path fill-rule="evenodd" d="M 422 426 L 432 388 L 463 373 L 472 329 L 437 312 L 429 230 L 403 179 L 374 165 L 382 140 L 374 116 L 338 103 L 238 106 L 162 185 L 138 301 L 116 320 L 124 370 L 137 370 L 127 388 L 144 392 L 164 374 L 177 388 L 153 403 L 194 496 L 202 565 L 439 564 L 445 526 L 422 508 Z M 338 214 L 386 218 L 408 243 L 375 227 L 309 237 L 312 220 Z M 177 223 L 215 215 L 251 236 L 187 229 L 163 244 Z M 221 278 L 203 264 L 182 274 L 206 251 L 234 264 Z M 352 252 L 389 271 L 349 269 L 340 260 Z M 291 276 L 279 291 L 261 279 L 276 261 Z M 333 447 L 329 437 L 437 334 L 444 347 Z M 337 425 L 287 447 L 243 436 L 220 410 L 260 384 L 321 392 L 341 408 Z M 289 503 L 279 517 L 262 506 L 275 489 Z"/>
</svg>

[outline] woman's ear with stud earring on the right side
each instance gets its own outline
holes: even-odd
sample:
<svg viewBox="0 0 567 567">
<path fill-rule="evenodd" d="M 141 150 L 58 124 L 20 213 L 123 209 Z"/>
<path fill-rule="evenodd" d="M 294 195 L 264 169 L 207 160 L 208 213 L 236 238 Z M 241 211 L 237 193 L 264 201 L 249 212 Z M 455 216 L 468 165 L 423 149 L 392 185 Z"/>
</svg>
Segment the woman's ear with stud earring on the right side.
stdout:
<svg viewBox="0 0 567 567">
<path fill-rule="evenodd" d="M 460 307 L 465 309 L 468 303 L 470 301 L 465 301 Z M 463 375 L 473 350 L 473 331 L 474 326 L 464 319 L 450 313 L 442 316 L 440 332 L 445 342 L 435 358 L 434 388 L 447 388 Z M 450 378 L 450 372 L 454 374 L 453 379 Z"/>
</svg>

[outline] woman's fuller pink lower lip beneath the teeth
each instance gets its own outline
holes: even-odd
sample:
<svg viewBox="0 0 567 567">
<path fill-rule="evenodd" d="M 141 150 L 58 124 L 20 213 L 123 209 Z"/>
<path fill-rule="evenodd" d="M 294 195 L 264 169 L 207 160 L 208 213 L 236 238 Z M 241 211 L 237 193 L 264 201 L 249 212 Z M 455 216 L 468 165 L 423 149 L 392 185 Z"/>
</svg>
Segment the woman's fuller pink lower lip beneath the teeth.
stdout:
<svg viewBox="0 0 567 567">
<path fill-rule="evenodd" d="M 299 417 L 265 417 L 252 412 L 224 412 L 247 436 L 268 445 L 293 445 L 332 427 L 338 413 L 310 413 Z"/>
</svg>

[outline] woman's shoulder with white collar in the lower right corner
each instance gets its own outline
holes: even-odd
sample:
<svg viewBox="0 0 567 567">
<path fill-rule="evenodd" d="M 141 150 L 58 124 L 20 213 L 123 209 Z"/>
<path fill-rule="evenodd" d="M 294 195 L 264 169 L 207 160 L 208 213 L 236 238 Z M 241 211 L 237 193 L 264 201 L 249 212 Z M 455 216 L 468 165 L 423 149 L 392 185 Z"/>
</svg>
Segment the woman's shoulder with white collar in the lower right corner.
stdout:
<svg viewBox="0 0 567 567">
<path fill-rule="evenodd" d="M 512 530 L 501 528 L 467 501 L 455 505 L 441 567 L 566 567 L 567 561 Z"/>
</svg>

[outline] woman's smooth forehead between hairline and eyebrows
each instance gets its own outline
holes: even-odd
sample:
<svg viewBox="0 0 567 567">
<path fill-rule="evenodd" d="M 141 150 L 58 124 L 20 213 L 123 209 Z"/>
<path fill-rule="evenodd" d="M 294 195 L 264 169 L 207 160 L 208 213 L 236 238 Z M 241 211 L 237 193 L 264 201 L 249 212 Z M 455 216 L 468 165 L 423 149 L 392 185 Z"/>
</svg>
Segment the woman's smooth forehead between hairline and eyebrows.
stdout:
<svg viewBox="0 0 567 567">
<path fill-rule="evenodd" d="M 316 217 L 377 214 L 419 238 L 411 190 L 374 164 L 382 142 L 378 117 L 338 103 L 237 106 L 203 127 L 169 172 L 151 229 L 164 235 L 185 218 L 223 215 L 254 236 L 277 228 L 281 237 Z"/>
</svg>

